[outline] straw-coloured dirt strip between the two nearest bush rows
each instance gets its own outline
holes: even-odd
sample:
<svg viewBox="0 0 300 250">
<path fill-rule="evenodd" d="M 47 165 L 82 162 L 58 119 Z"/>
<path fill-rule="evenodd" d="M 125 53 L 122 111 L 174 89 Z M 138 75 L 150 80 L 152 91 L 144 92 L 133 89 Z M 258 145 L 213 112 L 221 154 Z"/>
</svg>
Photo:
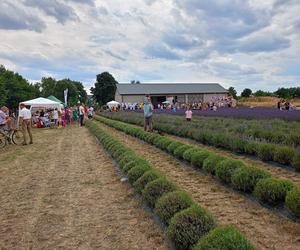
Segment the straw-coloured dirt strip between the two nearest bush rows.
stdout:
<svg viewBox="0 0 300 250">
<path fill-rule="evenodd" d="M 199 175 L 159 149 L 138 139 L 101 125 L 117 139 L 142 155 L 168 178 L 220 221 L 221 224 L 236 225 L 256 246 L 261 249 L 300 249 L 300 225 L 277 216 L 242 195 L 228 191 L 215 184 L 211 177 Z"/>
</svg>

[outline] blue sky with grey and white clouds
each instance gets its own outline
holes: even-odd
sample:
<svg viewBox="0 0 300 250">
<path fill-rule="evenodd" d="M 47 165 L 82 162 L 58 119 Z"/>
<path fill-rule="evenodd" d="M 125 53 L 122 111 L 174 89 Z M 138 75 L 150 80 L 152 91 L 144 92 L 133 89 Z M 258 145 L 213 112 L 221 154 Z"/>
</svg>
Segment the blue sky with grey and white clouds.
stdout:
<svg viewBox="0 0 300 250">
<path fill-rule="evenodd" d="M 1 0 L 0 64 L 31 81 L 300 85 L 299 0 Z"/>
</svg>

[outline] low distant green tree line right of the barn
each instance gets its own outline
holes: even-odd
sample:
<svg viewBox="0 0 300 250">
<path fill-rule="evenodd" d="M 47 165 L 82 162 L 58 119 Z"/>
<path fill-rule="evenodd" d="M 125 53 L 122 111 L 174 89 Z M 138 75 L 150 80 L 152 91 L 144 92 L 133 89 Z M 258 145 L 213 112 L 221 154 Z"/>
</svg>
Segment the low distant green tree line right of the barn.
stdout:
<svg viewBox="0 0 300 250">
<path fill-rule="evenodd" d="M 239 98 L 237 96 L 237 91 L 234 89 L 234 87 L 230 87 L 228 89 L 229 95 L 233 96 L 235 99 Z M 293 87 L 293 88 L 279 88 L 274 92 L 268 92 L 263 90 L 257 90 L 253 92 L 251 89 L 246 88 L 242 91 L 240 97 L 261 97 L 261 96 L 273 96 L 273 97 L 279 97 L 283 99 L 295 99 L 300 98 L 300 87 Z"/>
</svg>

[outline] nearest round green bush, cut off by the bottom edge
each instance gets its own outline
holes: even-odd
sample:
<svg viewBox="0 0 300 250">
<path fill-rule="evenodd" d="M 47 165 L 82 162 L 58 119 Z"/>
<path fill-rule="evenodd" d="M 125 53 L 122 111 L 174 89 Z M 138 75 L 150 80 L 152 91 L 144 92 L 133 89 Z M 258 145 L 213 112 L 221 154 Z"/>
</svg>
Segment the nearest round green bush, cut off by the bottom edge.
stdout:
<svg viewBox="0 0 300 250">
<path fill-rule="evenodd" d="M 203 237 L 193 250 L 255 250 L 233 226 L 217 227 Z"/>
</svg>

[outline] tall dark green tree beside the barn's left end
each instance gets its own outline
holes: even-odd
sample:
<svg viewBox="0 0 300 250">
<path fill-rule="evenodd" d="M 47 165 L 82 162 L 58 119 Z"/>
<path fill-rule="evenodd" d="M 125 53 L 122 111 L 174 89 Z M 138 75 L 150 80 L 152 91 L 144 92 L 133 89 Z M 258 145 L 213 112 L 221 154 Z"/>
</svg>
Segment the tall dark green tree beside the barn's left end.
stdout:
<svg viewBox="0 0 300 250">
<path fill-rule="evenodd" d="M 97 75 L 95 87 L 91 88 L 94 100 L 96 100 L 100 105 L 104 105 L 107 102 L 114 100 L 117 89 L 116 84 L 118 84 L 118 82 L 108 72 L 103 72 Z"/>
</svg>

